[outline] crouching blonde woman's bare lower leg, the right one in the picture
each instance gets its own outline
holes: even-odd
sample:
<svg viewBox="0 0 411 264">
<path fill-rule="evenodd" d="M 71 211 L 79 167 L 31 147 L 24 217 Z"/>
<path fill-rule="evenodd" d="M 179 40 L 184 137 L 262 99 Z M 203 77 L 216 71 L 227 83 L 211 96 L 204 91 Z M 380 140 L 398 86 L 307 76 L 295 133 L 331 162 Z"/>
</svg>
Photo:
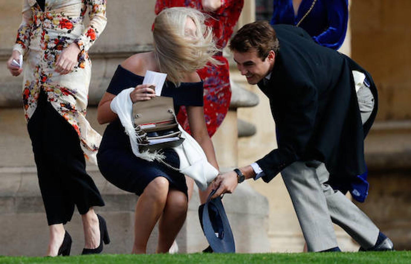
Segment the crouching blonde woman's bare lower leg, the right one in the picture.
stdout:
<svg viewBox="0 0 411 264">
<path fill-rule="evenodd" d="M 157 253 L 169 252 L 187 216 L 188 199 L 184 192 L 170 188 L 166 205 L 159 221 Z"/>
</svg>

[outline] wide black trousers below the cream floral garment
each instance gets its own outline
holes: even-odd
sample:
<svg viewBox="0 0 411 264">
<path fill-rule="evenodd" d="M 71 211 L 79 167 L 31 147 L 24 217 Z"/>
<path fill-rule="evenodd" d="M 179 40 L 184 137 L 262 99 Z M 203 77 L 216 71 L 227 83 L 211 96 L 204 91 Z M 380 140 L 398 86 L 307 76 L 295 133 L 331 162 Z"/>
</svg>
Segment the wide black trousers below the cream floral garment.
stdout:
<svg viewBox="0 0 411 264">
<path fill-rule="evenodd" d="M 43 90 L 27 129 L 48 225 L 70 221 L 74 205 L 80 214 L 92 206 L 104 206 L 99 190 L 85 171 L 77 132 L 48 102 Z"/>
</svg>

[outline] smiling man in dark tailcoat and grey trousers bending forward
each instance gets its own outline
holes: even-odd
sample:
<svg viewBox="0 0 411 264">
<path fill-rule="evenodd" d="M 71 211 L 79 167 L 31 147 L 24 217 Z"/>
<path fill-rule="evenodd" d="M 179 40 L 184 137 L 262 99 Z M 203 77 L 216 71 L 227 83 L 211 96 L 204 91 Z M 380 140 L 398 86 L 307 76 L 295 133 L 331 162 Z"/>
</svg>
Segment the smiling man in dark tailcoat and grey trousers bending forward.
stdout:
<svg viewBox="0 0 411 264">
<path fill-rule="evenodd" d="M 229 47 L 241 74 L 270 100 L 278 148 L 219 175 L 214 196 L 233 192 L 244 178 L 269 182 L 281 171 L 309 251 L 340 251 L 332 222 L 360 250 L 393 250 L 367 215 L 333 188 L 351 186 L 366 171 L 364 138 L 377 110 L 368 72 L 290 25 L 247 24 Z"/>
</svg>

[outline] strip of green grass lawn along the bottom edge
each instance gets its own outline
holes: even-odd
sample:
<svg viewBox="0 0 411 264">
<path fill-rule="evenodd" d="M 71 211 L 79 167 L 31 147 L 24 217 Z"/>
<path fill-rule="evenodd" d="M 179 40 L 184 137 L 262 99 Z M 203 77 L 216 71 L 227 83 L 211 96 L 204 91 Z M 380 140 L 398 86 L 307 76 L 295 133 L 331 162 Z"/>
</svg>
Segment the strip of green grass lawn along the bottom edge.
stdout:
<svg viewBox="0 0 411 264">
<path fill-rule="evenodd" d="M 88 255 L 72 257 L 0 257 L 0 263 L 411 263 L 411 251 L 394 252 L 327 252 L 272 254 L 157 254 L 157 255 Z"/>
</svg>

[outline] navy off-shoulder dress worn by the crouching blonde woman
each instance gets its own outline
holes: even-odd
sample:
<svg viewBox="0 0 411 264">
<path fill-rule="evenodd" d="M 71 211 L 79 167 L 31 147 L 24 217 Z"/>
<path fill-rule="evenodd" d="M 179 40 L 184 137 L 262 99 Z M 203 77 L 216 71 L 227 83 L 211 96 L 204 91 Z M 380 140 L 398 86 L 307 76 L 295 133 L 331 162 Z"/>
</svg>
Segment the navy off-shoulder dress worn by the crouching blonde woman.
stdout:
<svg viewBox="0 0 411 264">
<path fill-rule="evenodd" d="M 118 95 L 124 89 L 143 83 L 143 79 L 144 76 L 136 75 L 119 65 L 107 92 Z M 203 106 L 203 82 L 181 83 L 179 87 L 166 82 L 161 95 L 173 97 L 176 113 L 182 105 Z M 163 152 L 166 162 L 178 168 L 180 161 L 175 151 L 170 148 L 164 149 Z M 154 178 L 162 176 L 167 178 L 172 188 L 187 195 L 187 185 L 183 174 L 157 161 L 142 160 L 133 154 L 129 137 L 125 134 L 119 119 L 106 127 L 97 153 L 97 161 L 104 178 L 122 190 L 141 195 Z"/>
</svg>

